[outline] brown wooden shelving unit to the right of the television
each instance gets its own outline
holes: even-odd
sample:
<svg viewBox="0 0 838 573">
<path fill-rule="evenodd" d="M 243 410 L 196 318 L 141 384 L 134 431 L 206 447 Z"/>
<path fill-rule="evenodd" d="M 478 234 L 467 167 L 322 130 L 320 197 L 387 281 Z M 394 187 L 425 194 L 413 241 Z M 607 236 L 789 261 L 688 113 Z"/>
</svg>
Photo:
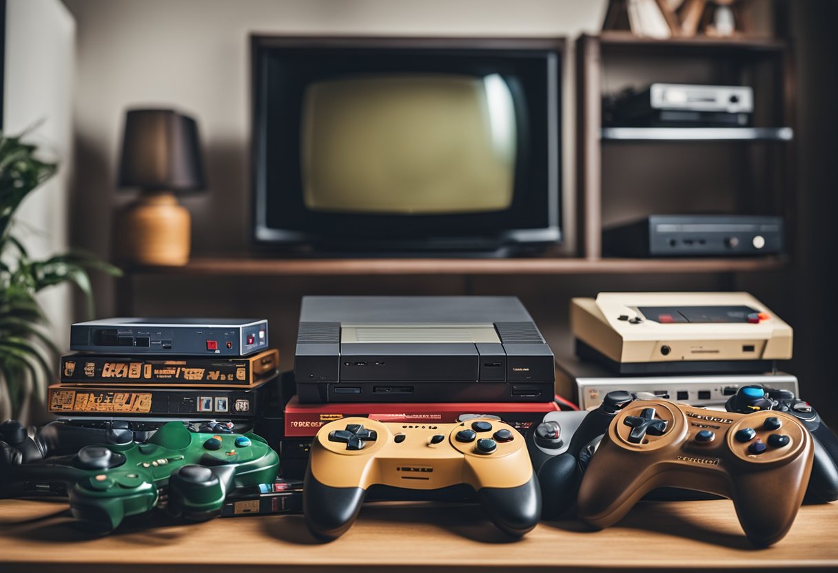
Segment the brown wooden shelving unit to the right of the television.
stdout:
<svg viewBox="0 0 838 573">
<path fill-rule="evenodd" d="M 649 39 L 627 32 L 582 34 L 576 44 L 578 255 L 588 261 L 608 255 L 603 254 L 603 227 L 627 222 L 621 213 L 614 212 L 615 198 L 632 198 L 634 219 L 648 214 L 701 212 L 675 210 L 679 208 L 673 202 L 668 203 L 669 209 L 660 210 L 660 204 L 650 199 L 646 190 L 684 194 L 685 204 L 689 204 L 690 193 L 706 190 L 696 186 L 687 190 L 696 174 L 712 173 L 714 162 L 728 157 L 741 168 L 733 173 L 728 168 L 728 177 L 716 181 L 721 184 L 709 186 L 708 190 L 724 187 L 725 192 L 716 193 L 721 209 L 706 212 L 782 214 L 787 252 L 794 257 L 793 54 L 791 45 L 783 39 Z M 603 95 L 619 93 L 628 86 L 642 89 L 654 82 L 751 85 L 753 126 L 603 126 Z M 690 151 L 685 152 L 684 146 L 691 146 Z M 684 159 L 687 153 L 691 154 L 689 162 Z M 670 171 L 663 183 L 648 177 L 632 188 L 634 178 L 644 174 L 631 173 L 634 166 L 648 165 L 647 173 L 658 173 L 660 164 L 656 162 L 670 157 L 680 162 L 680 178 L 675 179 Z M 730 197 L 734 199 L 727 200 Z M 706 268 L 714 266 L 706 262 Z"/>
</svg>

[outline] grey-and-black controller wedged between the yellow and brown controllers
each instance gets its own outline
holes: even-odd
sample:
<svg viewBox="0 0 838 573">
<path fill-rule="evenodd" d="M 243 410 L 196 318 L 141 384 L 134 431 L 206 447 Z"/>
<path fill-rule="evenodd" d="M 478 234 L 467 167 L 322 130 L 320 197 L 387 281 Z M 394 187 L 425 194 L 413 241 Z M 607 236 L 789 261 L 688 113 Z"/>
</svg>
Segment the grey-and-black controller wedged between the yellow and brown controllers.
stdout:
<svg viewBox="0 0 838 573">
<path fill-rule="evenodd" d="M 530 432 L 527 450 L 541 484 L 543 519 L 555 519 L 570 507 L 582 479 L 580 456 L 589 455 L 587 445 L 603 436 L 634 398 L 623 390 L 608 392 L 596 410 L 551 412 Z"/>
</svg>

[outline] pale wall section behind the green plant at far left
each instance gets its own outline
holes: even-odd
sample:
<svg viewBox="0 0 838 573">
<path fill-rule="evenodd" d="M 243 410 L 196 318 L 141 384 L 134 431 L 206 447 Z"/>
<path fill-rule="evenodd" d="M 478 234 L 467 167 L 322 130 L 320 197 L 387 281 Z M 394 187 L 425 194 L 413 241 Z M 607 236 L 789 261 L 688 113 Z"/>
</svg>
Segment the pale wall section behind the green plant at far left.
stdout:
<svg viewBox="0 0 838 573">
<path fill-rule="evenodd" d="M 6 9 L 3 128 L 18 134 L 34 127 L 28 141 L 60 163 L 54 178 L 23 201 L 14 231 L 30 256 L 46 258 L 67 249 L 75 22 L 59 0 L 8 0 Z M 70 342 L 70 300 L 68 285 L 39 295 L 59 348 Z M 0 419 L 8 413 L 8 401 L 0 395 Z"/>
</svg>

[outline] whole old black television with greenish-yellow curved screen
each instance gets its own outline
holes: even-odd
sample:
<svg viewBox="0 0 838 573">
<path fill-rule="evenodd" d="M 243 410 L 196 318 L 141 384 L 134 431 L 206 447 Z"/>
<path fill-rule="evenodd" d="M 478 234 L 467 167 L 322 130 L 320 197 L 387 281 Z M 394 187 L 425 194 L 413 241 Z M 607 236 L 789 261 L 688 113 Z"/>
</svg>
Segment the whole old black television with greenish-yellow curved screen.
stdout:
<svg viewBox="0 0 838 573">
<path fill-rule="evenodd" d="M 252 37 L 256 244 L 515 252 L 561 240 L 563 46 Z"/>
</svg>

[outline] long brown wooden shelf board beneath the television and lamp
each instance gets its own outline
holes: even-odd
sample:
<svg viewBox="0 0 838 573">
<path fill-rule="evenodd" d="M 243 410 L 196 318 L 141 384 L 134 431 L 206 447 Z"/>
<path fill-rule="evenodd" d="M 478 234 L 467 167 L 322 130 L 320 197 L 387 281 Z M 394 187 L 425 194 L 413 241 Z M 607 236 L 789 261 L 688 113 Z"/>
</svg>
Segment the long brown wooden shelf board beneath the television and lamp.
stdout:
<svg viewBox="0 0 838 573">
<path fill-rule="evenodd" d="M 127 269 L 128 276 L 572 275 L 774 271 L 784 257 L 747 259 L 270 259 L 195 258 L 186 266 Z"/>
</svg>

